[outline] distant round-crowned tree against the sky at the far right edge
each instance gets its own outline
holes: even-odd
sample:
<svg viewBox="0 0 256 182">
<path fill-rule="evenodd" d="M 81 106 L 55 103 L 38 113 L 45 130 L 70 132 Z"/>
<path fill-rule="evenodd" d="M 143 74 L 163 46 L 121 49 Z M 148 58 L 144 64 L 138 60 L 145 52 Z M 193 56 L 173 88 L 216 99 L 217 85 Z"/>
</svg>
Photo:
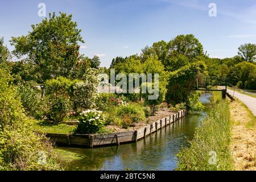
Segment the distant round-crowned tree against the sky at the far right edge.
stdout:
<svg viewBox="0 0 256 182">
<path fill-rule="evenodd" d="M 243 44 L 238 48 L 238 55 L 242 57 L 243 60 L 253 63 L 256 59 L 256 44 Z"/>
</svg>

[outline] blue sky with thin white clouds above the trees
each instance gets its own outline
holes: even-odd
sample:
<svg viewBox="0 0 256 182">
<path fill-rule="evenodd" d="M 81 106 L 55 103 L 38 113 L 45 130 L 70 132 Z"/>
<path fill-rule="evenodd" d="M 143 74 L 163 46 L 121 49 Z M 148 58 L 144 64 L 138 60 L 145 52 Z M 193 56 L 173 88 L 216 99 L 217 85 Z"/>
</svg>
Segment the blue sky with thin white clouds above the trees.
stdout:
<svg viewBox="0 0 256 182">
<path fill-rule="evenodd" d="M 208 15 L 212 2 L 216 17 Z M 256 43 L 255 0 L 1 0 L 0 36 L 11 50 L 11 36 L 26 35 L 31 24 L 42 21 L 39 3 L 46 4 L 47 15 L 73 14 L 85 40 L 81 53 L 100 56 L 106 67 L 113 57 L 140 53 L 180 34 L 194 34 L 210 57 L 234 56 L 241 44 Z"/>
</svg>

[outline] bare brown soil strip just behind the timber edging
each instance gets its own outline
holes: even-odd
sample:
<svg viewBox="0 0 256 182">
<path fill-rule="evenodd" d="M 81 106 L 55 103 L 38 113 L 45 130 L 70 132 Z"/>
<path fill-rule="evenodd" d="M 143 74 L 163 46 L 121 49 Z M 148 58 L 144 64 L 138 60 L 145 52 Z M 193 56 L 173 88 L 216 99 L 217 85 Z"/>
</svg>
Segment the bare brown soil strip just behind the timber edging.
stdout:
<svg viewBox="0 0 256 182">
<path fill-rule="evenodd" d="M 168 117 L 172 114 L 174 114 L 174 112 L 171 112 L 170 109 L 163 108 L 163 109 L 160 109 L 159 111 L 156 111 L 155 115 L 152 115 L 152 116 L 146 118 L 146 121 L 135 123 L 135 126 L 129 127 L 129 129 L 123 129 L 120 126 L 115 126 L 115 125 L 108 125 L 108 126 L 106 126 L 106 128 L 111 130 L 111 131 L 114 131 L 114 132 L 138 130 L 143 126 L 147 126 L 147 125 L 149 125 L 149 124 L 151 124 L 155 121 L 158 121 L 159 119 L 163 119 L 163 118 Z"/>
</svg>

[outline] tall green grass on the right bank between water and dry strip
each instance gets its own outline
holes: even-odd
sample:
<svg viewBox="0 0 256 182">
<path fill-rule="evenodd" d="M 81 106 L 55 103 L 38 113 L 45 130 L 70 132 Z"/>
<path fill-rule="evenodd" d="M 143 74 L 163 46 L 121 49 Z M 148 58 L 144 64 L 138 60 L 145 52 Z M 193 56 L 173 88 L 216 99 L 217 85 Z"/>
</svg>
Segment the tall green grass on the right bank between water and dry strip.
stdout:
<svg viewBox="0 0 256 182">
<path fill-rule="evenodd" d="M 177 170 L 231 170 L 232 156 L 229 145 L 230 115 L 228 102 L 218 101 L 209 111 L 209 115 L 195 131 L 191 146 L 180 150 Z M 216 152 L 216 163 L 214 159 Z"/>
</svg>

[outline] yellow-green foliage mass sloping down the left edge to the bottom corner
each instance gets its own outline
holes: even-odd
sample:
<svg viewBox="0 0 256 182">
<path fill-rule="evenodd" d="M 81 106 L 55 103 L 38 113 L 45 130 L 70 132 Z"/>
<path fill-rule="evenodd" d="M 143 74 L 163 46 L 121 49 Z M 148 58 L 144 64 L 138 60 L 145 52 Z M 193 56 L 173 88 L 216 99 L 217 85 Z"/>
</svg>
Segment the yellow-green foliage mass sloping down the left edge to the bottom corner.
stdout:
<svg viewBox="0 0 256 182">
<path fill-rule="evenodd" d="M 32 131 L 13 78 L 0 69 L 0 170 L 60 169 L 52 144 Z M 46 163 L 40 162 L 44 154 Z"/>
</svg>

